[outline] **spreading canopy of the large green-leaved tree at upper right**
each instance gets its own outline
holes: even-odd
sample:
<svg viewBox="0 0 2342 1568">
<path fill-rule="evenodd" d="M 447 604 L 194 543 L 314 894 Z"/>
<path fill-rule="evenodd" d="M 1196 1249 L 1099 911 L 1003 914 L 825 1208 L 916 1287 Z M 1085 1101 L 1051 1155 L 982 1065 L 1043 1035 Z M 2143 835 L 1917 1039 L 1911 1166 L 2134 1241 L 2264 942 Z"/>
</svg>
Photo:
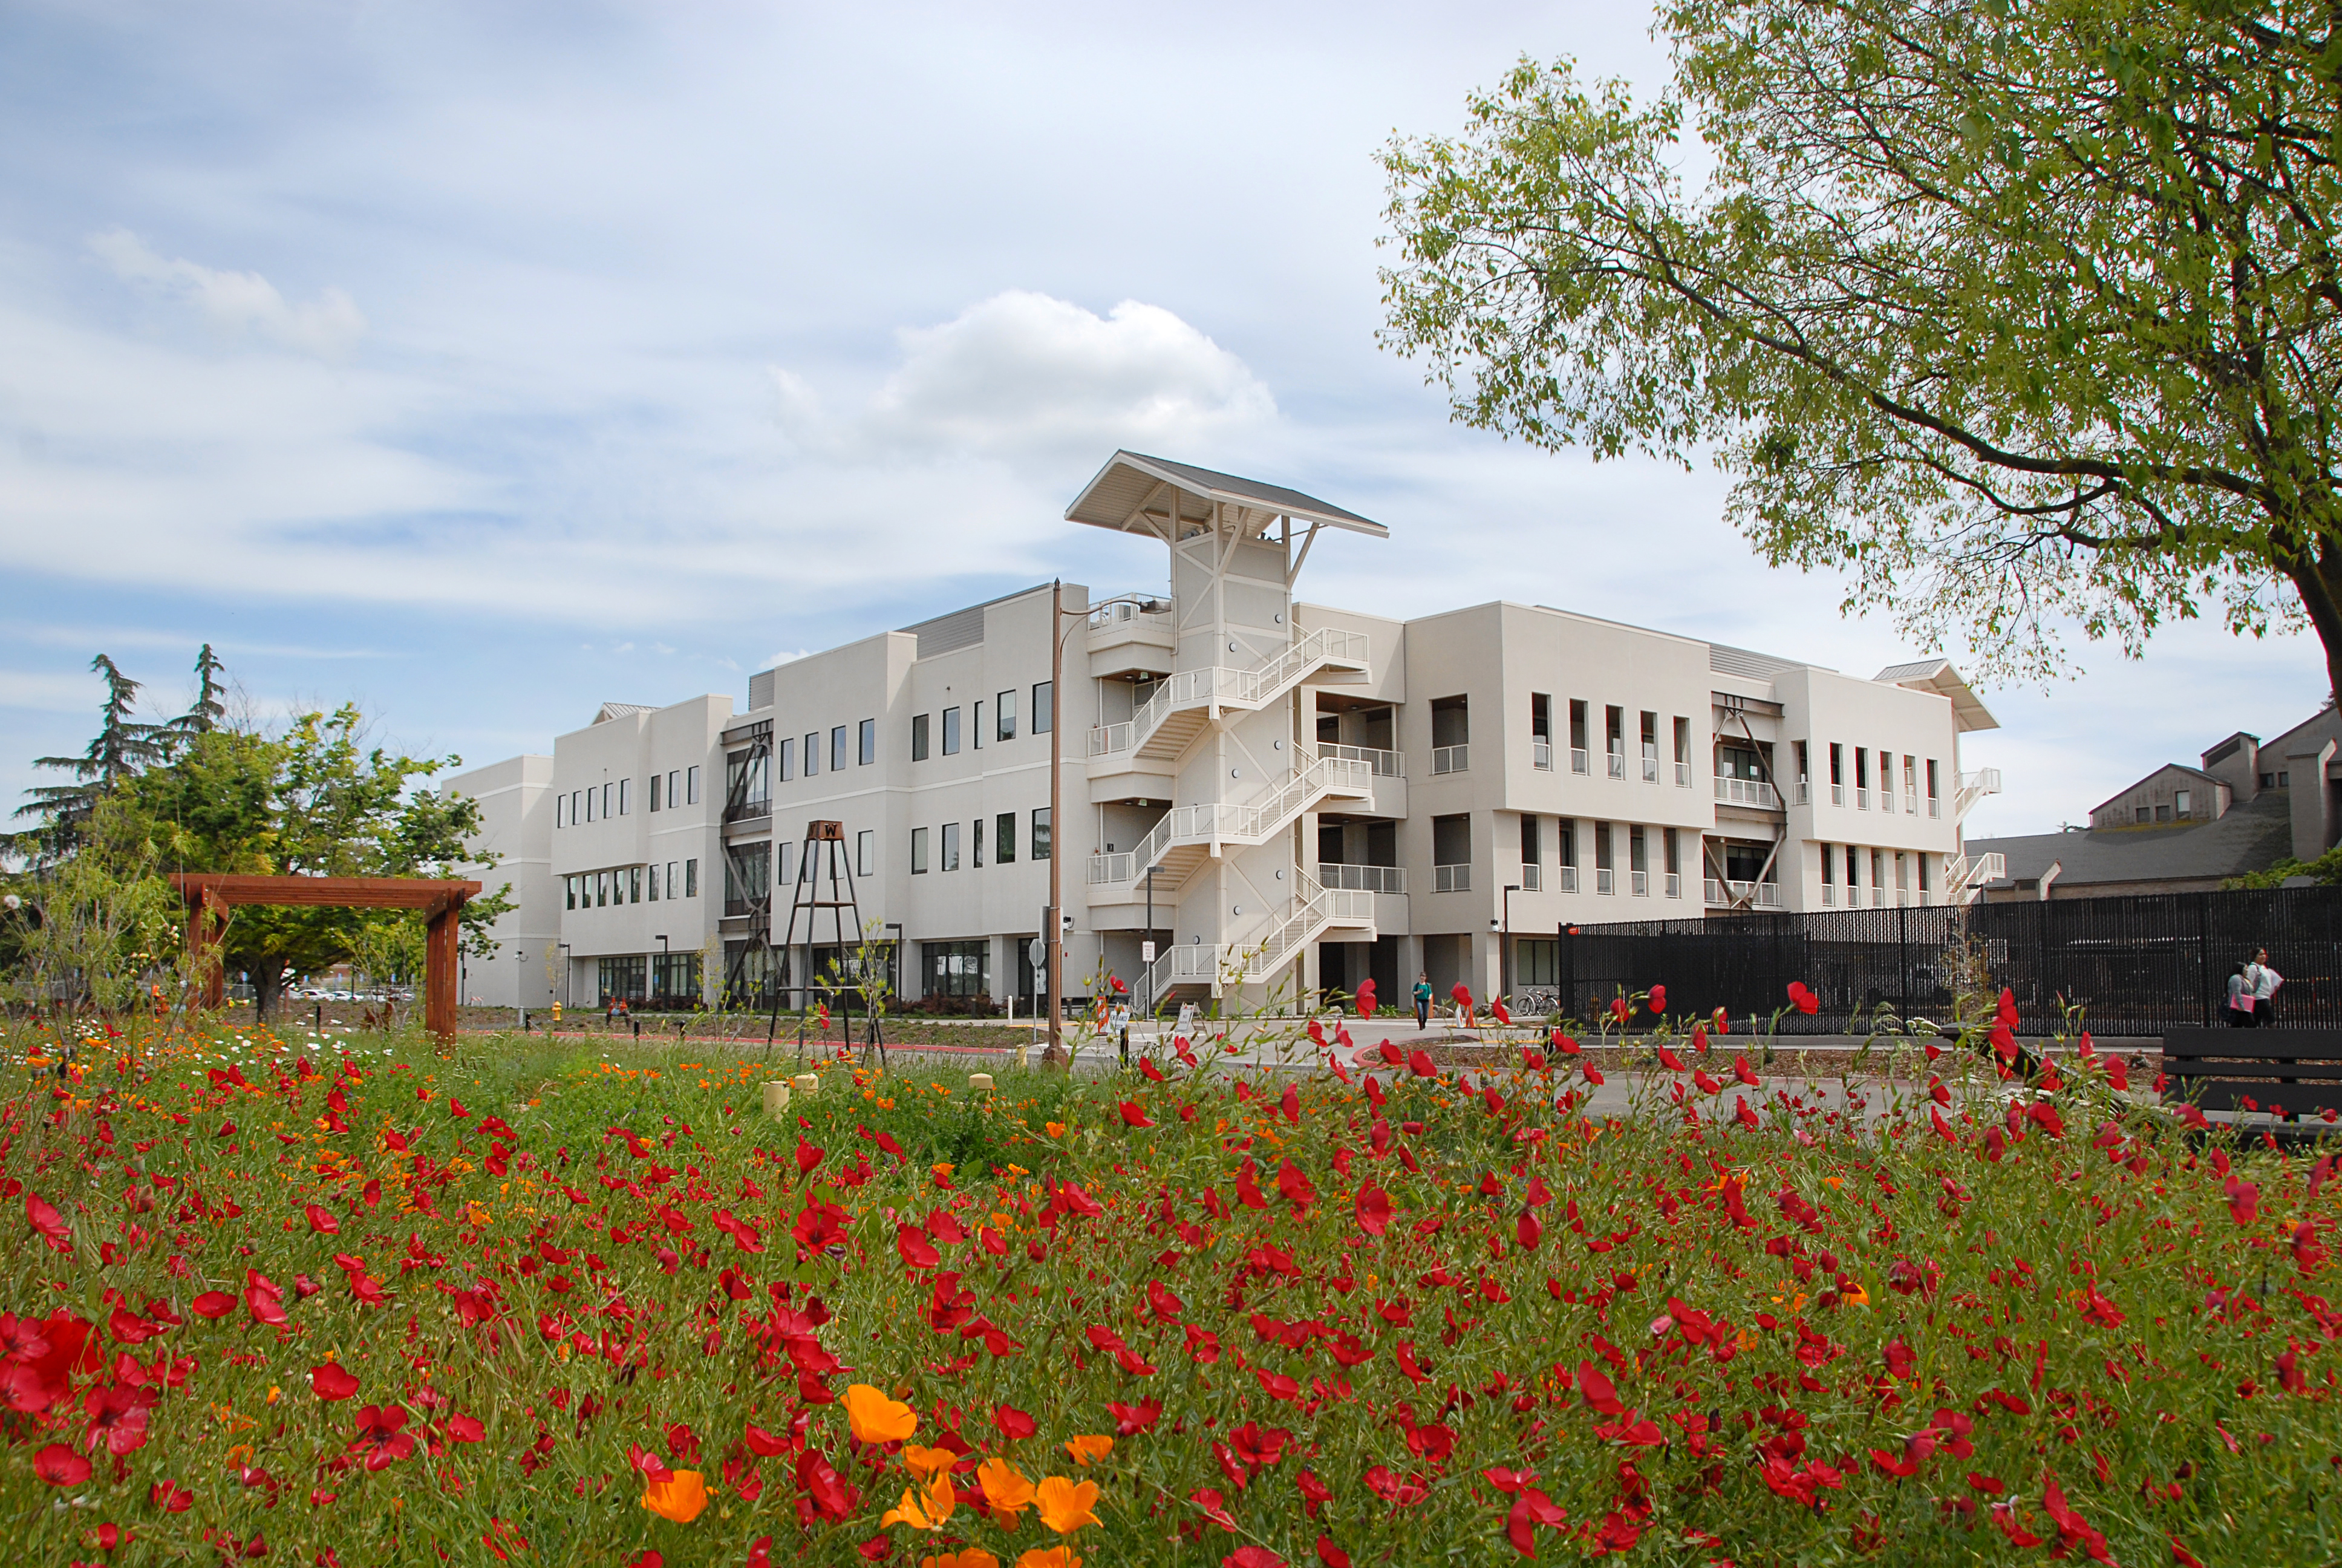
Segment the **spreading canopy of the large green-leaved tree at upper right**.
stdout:
<svg viewBox="0 0 2342 1568">
<path fill-rule="evenodd" d="M 1649 105 L 1522 61 L 1461 138 L 1386 150 L 1384 342 L 1459 420 L 1712 457 L 1771 563 L 1988 670 L 2218 607 L 2307 619 L 2342 689 L 2333 7 L 1670 0 L 1658 30 Z"/>
</svg>

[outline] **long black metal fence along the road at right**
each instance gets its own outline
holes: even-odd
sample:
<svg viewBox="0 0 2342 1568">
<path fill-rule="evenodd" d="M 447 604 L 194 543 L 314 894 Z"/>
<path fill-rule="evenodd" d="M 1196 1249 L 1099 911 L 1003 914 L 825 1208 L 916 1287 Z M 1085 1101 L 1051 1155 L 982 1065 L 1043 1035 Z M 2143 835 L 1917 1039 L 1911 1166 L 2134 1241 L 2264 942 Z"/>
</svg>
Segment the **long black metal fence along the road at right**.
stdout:
<svg viewBox="0 0 2342 1568">
<path fill-rule="evenodd" d="M 1881 1005 L 1944 1020 L 1981 966 L 1993 989 L 2016 994 L 2026 1034 L 2056 1029 L 2075 1005 L 2096 1034 L 2152 1036 L 2223 1024 L 2230 970 L 2262 947 L 2286 977 L 2279 1022 L 2342 1029 L 2342 888 L 1562 926 L 1557 991 L 1562 1013 L 1593 1017 L 1663 982 L 1668 1013 L 1728 1008 L 1742 1027 L 1803 982 L 1820 1013 L 1789 1010 L 1780 1029 L 1843 1034 Z"/>
</svg>

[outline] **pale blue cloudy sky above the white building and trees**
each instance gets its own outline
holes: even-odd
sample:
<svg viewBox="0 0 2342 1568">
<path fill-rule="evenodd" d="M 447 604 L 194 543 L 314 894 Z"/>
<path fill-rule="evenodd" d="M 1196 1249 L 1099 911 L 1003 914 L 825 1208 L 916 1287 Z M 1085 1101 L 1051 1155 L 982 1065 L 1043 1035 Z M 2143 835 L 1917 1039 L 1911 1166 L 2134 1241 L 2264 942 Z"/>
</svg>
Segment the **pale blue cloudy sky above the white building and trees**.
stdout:
<svg viewBox="0 0 2342 1568">
<path fill-rule="evenodd" d="M 1653 84 L 1632 5 L 0 7 L 0 797 L 94 652 L 185 701 L 361 701 L 548 750 L 604 698 L 1159 553 L 1070 527 L 1115 445 L 1391 525 L 1304 593 L 1492 598 L 1869 675 L 1721 485 L 1447 422 L 1375 347 L 1375 152 L 1522 52 Z M 1958 647 L 1951 649 L 1958 656 Z M 2035 832 L 2323 694 L 2192 626 L 1991 689 Z"/>
</svg>

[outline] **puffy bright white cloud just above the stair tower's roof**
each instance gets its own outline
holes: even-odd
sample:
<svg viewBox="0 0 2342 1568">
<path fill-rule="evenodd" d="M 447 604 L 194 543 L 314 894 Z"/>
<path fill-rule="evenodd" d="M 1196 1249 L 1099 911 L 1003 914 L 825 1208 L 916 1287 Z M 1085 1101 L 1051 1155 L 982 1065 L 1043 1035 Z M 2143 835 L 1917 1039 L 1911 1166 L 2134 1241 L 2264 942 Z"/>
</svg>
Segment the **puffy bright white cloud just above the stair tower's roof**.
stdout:
<svg viewBox="0 0 2342 1568">
<path fill-rule="evenodd" d="M 1159 305 L 1098 316 L 1012 288 L 941 326 L 902 328 L 902 361 L 869 408 L 827 427 L 820 398 L 773 368 L 782 429 L 845 462 L 993 457 L 1012 464 L 1117 445 L 1201 450 L 1276 420 L 1251 368 Z"/>
</svg>

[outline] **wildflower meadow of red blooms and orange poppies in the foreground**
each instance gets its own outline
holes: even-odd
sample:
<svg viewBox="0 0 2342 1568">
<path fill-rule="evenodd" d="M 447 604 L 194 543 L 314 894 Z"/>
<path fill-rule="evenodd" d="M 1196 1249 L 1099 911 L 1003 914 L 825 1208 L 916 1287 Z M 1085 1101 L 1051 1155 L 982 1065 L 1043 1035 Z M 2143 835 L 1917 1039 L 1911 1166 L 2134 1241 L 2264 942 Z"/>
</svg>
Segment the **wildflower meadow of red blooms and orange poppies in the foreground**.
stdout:
<svg viewBox="0 0 2342 1568">
<path fill-rule="evenodd" d="M 28 1568 L 2342 1559 L 2333 1160 L 1988 1029 L 1834 1095 L 1588 1034 L 1593 1118 L 1550 1027 L 780 1111 L 754 1048 L 19 1027 L 0 1519 Z"/>
</svg>

